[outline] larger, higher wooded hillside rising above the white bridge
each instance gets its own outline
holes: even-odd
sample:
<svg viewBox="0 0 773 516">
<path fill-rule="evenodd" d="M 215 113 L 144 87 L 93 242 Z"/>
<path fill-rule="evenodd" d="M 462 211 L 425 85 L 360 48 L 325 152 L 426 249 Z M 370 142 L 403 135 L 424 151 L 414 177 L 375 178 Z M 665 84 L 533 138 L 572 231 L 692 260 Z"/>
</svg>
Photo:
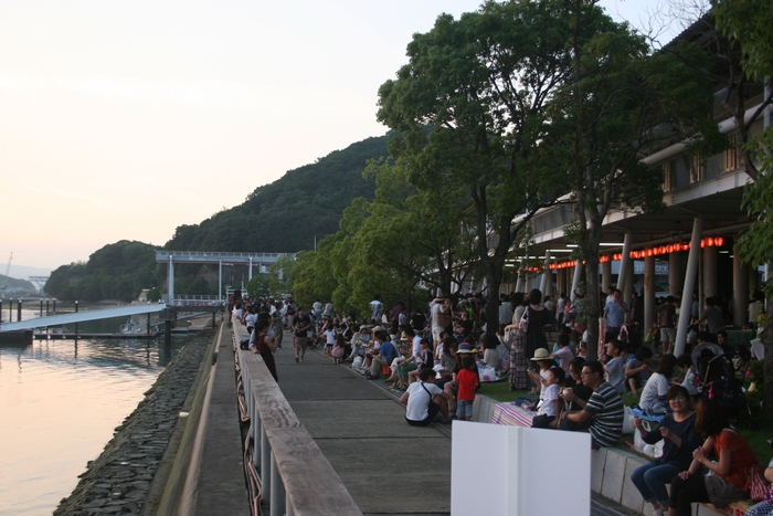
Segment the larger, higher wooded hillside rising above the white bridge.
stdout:
<svg viewBox="0 0 773 516">
<path fill-rule="evenodd" d="M 392 136 L 368 138 L 288 170 L 256 188 L 242 204 L 199 224 L 178 227 L 165 248 L 273 253 L 314 249 L 315 238 L 319 241 L 338 231 L 343 209 L 353 199 L 373 199 L 375 183 L 366 180 L 362 171 L 369 159 L 388 156 L 386 141 Z"/>
</svg>

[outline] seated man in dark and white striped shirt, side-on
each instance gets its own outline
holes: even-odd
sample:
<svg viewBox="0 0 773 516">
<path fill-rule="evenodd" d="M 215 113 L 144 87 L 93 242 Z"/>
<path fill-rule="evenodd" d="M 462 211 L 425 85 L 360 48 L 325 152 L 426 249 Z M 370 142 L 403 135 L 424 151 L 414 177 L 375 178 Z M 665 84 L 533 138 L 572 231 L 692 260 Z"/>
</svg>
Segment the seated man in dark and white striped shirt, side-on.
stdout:
<svg viewBox="0 0 773 516">
<path fill-rule="evenodd" d="M 563 412 L 559 429 L 590 432 L 594 450 L 616 445 L 623 433 L 623 398 L 604 381 L 604 367 L 599 361 L 585 362 L 581 378 L 584 386 L 593 389 L 593 394 L 583 410 Z"/>
</svg>

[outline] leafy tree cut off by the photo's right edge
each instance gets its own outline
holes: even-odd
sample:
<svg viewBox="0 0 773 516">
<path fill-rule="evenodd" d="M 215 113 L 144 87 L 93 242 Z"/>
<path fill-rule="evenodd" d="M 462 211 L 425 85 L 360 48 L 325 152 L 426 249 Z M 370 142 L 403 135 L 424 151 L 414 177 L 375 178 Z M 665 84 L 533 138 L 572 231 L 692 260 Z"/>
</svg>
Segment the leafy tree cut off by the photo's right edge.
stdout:
<svg viewBox="0 0 773 516">
<path fill-rule="evenodd" d="M 741 64 L 745 77 L 763 82 L 766 91 L 763 105 L 773 102 L 771 77 L 773 76 L 773 32 L 771 31 L 770 3 L 763 0 L 733 0 L 717 2 L 714 8 L 718 28 L 741 48 Z M 773 128 L 765 128 L 762 136 L 744 147 L 745 161 L 754 166 L 754 158 L 761 157 L 760 166 L 752 169 L 744 166 L 753 179 L 743 191 L 743 206 L 752 217 L 752 224 L 741 235 L 739 245 L 741 255 L 754 265 L 770 263 L 773 256 Z M 745 165 L 745 164 L 744 164 Z M 773 282 L 765 284 L 767 308 L 763 328 L 765 349 L 763 407 L 770 417 L 773 407 Z"/>
</svg>

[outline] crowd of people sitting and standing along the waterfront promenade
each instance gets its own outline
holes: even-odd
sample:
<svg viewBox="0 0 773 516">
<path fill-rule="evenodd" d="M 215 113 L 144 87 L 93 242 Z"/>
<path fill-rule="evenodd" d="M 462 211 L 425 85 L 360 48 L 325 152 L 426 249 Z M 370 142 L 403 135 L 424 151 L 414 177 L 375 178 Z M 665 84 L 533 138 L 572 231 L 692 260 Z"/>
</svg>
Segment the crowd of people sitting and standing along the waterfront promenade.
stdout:
<svg viewBox="0 0 773 516">
<path fill-rule="evenodd" d="M 235 302 L 232 317 L 251 329 L 250 349 L 265 358 L 274 378 L 272 352 L 287 331 L 296 362 L 304 361 L 308 348 L 319 348 L 368 379 L 385 377 L 406 406 L 411 425 L 470 420 L 483 371 L 491 370 L 494 379 L 506 378 L 510 390 L 526 391 L 516 404 L 530 411 L 534 428 L 587 432 L 592 447 L 615 446 L 623 433 L 623 394 L 633 392 L 640 411 L 633 420 L 635 432 L 648 444 L 664 441 L 663 454 L 631 477 L 655 514 L 688 515 L 693 502 L 722 507 L 749 498 L 758 459 L 730 425 L 722 403 L 701 392 L 705 379 L 695 357 L 673 355 L 676 299 L 663 298 L 656 324 L 644 336 L 640 299 L 634 294 L 627 304 L 620 291 L 610 289 L 601 307 L 603 352 L 599 360 L 586 360 L 583 293 L 574 294 L 573 301 L 561 294 L 555 302 L 539 289 L 501 295 L 499 320 L 493 325 L 486 324 L 479 294 L 456 301 L 438 294 L 413 312 L 403 303 L 388 312 L 377 295 L 366 320 L 336 313 L 331 302 L 317 299 L 306 310 L 292 298 Z M 732 351 L 717 305 L 709 298 L 703 312 L 695 310 L 689 347 Z M 750 307 L 750 325 L 758 309 Z M 762 475 L 770 480 L 771 467 Z M 769 498 L 748 514 L 770 515 L 771 509 Z"/>
</svg>

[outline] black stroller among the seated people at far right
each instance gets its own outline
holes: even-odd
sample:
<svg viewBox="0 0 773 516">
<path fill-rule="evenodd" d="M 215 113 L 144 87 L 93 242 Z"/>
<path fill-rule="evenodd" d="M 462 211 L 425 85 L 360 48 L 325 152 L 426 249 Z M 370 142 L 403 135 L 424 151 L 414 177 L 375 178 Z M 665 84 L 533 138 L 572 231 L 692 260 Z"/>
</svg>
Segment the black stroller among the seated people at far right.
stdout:
<svg viewBox="0 0 773 516">
<path fill-rule="evenodd" d="M 746 428 L 752 429 L 752 412 L 746 402 L 741 380 L 735 376 L 732 357 L 712 343 L 703 343 L 691 352 L 696 366 L 696 388 L 708 399 L 720 402 L 731 418 L 748 414 Z"/>
</svg>

